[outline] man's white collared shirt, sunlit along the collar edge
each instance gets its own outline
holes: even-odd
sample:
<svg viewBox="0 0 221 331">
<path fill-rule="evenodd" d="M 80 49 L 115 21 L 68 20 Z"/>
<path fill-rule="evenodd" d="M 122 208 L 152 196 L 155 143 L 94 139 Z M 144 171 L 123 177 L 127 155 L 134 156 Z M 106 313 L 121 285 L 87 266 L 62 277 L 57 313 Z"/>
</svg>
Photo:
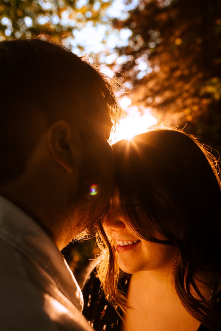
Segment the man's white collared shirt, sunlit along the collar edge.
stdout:
<svg viewBox="0 0 221 331">
<path fill-rule="evenodd" d="M 0 196 L 0 329 L 93 330 L 62 254 L 41 227 Z"/>
</svg>

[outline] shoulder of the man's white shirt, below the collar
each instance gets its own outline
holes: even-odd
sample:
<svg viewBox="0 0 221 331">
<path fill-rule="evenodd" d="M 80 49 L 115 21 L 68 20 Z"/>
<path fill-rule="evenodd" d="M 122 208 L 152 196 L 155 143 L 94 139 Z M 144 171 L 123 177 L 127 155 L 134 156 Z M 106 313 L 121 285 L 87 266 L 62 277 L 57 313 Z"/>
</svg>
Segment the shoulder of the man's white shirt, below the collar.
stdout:
<svg viewBox="0 0 221 331">
<path fill-rule="evenodd" d="M 33 261 L 0 239 L 1 330 L 89 331 L 81 312 Z M 69 309 L 70 307 L 70 309 Z"/>
</svg>

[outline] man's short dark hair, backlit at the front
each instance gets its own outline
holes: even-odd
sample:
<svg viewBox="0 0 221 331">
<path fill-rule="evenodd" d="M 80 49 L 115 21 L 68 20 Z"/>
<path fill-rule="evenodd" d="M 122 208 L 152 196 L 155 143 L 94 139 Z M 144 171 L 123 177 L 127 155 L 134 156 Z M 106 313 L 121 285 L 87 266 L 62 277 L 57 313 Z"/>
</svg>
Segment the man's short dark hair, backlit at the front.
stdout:
<svg viewBox="0 0 221 331">
<path fill-rule="evenodd" d="M 121 115 L 115 84 L 63 45 L 46 36 L 0 42 L 0 185 L 24 172 L 40 134 L 70 116 Z"/>
</svg>

